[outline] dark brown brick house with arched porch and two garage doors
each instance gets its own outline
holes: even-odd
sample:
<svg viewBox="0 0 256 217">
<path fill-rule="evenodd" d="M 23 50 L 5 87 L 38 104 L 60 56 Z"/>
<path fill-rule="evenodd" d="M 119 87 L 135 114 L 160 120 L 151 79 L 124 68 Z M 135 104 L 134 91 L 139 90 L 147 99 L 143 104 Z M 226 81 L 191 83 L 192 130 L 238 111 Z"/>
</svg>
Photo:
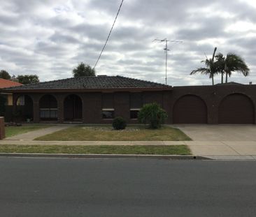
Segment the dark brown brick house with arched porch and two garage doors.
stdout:
<svg viewBox="0 0 256 217">
<path fill-rule="evenodd" d="M 13 94 L 13 114 L 34 123 L 137 123 L 145 103 L 168 114 L 166 124 L 255 124 L 256 85 L 229 83 L 171 87 L 129 77 L 76 77 L 3 89 Z"/>
</svg>

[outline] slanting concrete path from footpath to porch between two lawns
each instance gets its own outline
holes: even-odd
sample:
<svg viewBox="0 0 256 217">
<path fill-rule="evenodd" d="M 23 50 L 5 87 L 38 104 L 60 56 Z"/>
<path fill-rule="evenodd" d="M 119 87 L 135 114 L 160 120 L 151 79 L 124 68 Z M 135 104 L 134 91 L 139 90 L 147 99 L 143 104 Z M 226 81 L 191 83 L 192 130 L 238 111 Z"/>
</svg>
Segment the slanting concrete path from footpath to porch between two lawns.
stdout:
<svg viewBox="0 0 256 217">
<path fill-rule="evenodd" d="M 22 134 L 19 134 L 19 135 L 15 135 L 13 137 L 7 137 L 6 139 L 4 139 L 2 141 L 6 141 L 6 140 L 26 140 L 26 141 L 27 140 L 28 141 L 29 140 L 34 140 L 36 137 L 41 137 L 43 135 L 54 133 L 54 132 L 59 131 L 59 130 L 64 130 L 64 129 L 69 128 L 69 127 L 71 127 L 71 125 L 52 126 L 50 128 L 43 128 L 43 129 L 40 129 L 40 130 L 34 130 L 34 131 L 30 131 L 28 133 L 22 133 Z"/>
</svg>

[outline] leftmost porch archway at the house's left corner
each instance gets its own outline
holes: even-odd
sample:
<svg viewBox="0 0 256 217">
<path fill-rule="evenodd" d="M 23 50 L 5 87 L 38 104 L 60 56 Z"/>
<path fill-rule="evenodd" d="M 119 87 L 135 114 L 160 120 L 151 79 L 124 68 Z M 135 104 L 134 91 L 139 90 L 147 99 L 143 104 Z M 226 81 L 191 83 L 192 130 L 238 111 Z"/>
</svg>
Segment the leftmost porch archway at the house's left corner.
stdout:
<svg viewBox="0 0 256 217">
<path fill-rule="evenodd" d="M 34 103 L 29 95 L 19 96 L 16 100 L 15 106 L 15 119 L 18 119 L 19 121 L 34 120 Z"/>
</svg>

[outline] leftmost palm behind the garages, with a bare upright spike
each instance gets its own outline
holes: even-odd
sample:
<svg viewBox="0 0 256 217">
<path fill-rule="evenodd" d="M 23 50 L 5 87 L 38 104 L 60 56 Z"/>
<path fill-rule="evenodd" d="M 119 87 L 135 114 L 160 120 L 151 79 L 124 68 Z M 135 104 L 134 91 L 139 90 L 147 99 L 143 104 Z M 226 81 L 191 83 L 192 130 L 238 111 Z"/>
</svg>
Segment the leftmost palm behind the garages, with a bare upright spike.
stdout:
<svg viewBox="0 0 256 217">
<path fill-rule="evenodd" d="M 218 66 L 217 66 L 217 63 L 214 61 L 216 50 L 217 50 L 217 47 L 214 48 L 212 59 L 211 58 L 208 59 L 206 57 L 206 60 L 201 61 L 202 63 L 205 64 L 206 67 L 201 67 L 201 68 L 197 68 L 195 70 L 192 70 L 190 75 L 194 75 L 194 74 L 197 74 L 197 73 L 201 73 L 203 75 L 209 75 L 209 78 L 211 78 L 212 84 L 214 85 L 213 77 L 214 77 L 214 75 L 218 74 Z"/>
</svg>

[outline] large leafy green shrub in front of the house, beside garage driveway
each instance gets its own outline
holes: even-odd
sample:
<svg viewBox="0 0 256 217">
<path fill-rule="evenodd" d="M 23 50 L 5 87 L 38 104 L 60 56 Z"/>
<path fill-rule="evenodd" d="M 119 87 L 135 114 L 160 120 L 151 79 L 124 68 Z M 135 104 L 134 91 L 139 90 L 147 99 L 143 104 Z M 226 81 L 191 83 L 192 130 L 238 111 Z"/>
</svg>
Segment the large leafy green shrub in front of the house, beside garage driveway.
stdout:
<svg viewBox="0 0 256 217">
<path fill-rule="evenodd" d="M 138 122 L 149 124 L 150 128 L 161 127 L 167 117 L 166 112 L 157 103 L 145 104 L 138 112 Z"/>
</svg>

